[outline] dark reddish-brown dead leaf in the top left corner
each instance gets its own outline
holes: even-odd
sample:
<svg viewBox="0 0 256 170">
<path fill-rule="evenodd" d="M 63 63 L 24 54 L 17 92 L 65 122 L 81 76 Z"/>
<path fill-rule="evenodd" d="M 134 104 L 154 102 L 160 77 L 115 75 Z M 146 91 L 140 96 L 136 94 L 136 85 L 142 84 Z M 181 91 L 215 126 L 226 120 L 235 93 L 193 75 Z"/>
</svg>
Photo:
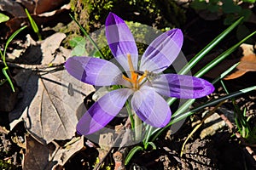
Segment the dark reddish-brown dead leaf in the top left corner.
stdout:
<svg viewBox="0 0 256 170">
<path fill-rule="evenodd" d="M 70 5 L 66 3 L 68 3 L 66 0 L 37 0 L 34 2 L 27 0 L 1 0 L 0 12 L 7 13 L 10 17 L 10 20 L 5 22 L 5 25 L 9 27 L 5 37 L 9 37 L 21 26 L 30 26 L 25 8 L 29 10 L 38 26 L 45 23 L 56 24 L 67 21 L 65 16 L 67 16 L 67 11 L 70 10 Z"/>
</svg>

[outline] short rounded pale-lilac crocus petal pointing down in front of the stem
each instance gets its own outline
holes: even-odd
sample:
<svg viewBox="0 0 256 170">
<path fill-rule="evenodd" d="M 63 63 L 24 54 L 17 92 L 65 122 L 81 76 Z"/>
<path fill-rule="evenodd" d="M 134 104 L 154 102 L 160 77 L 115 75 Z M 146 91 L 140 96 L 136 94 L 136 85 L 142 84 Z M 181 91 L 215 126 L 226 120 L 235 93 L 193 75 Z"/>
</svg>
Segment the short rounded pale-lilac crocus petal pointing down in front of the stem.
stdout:
<svg viewBox="0 0 256 170">
<path fill-rule="evenodd" d="M 169 105 L 154 88 L 143 86 L 137 90 L 131 99 L 131 107 L 143 122 L 153 127 L 165 127 L 170 122 Z"/>
</svg>

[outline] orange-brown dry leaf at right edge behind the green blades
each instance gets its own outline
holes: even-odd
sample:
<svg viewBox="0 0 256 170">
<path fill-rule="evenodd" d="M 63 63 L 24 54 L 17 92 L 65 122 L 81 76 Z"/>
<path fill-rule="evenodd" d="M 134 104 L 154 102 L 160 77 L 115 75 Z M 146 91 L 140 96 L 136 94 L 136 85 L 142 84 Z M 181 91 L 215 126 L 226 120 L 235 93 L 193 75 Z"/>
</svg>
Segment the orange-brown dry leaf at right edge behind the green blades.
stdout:
<svg viewBox="0 0 256 170">
<path fill-rule="evenodd" d="M 236 66 L 236 71 L 224 78 L 224 80 L 235 79 L 241 77 L 247 71 L 256 71 L 256 54 L 253 53 L 253 46 L 242 44 L 243 57 L 240 59 L 240 64 Z"/>
</svg>

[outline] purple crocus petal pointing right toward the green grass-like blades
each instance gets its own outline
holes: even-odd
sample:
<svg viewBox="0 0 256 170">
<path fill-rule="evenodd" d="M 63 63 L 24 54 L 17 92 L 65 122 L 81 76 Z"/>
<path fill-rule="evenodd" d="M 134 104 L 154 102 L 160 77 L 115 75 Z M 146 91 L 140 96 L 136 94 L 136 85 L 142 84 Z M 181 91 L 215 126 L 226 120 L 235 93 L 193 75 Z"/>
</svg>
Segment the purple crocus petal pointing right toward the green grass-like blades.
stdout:
<svg viewBox="0 0 256 170">
<path fill-rule="evenodd" d="M 159 94 L 180 99 L 201 98 L 214 91 L 212 83 L 206 80 L 177 74 L 159 75 L 152 86 Z"/>
</svg>

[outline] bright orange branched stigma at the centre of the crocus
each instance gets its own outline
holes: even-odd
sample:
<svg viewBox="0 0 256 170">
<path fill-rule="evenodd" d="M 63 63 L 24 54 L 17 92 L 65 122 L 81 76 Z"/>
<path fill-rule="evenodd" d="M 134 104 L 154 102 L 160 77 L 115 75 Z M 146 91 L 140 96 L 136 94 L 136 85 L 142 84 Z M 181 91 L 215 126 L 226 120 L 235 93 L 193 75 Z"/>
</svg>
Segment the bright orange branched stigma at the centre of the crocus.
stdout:
<svg viewBox="0 0 256 170">
<path fill-rule="evenodd" d="M 143 75 L 139 75 L 136 71 L 134 71 L 134 67 L 131 61 L 131 54 L 127 54 L 127 59 L 131 72 L 131 77 L 125 77 L 125 75 L 123 75 L 122 77 L 126 81 L 131 82 L 132 88 L 138 89 L 140 87 L 140 82 L 142 82 L 143 79 L 147 77 L 148 71 L 144 71 Z"/>
</svg>

